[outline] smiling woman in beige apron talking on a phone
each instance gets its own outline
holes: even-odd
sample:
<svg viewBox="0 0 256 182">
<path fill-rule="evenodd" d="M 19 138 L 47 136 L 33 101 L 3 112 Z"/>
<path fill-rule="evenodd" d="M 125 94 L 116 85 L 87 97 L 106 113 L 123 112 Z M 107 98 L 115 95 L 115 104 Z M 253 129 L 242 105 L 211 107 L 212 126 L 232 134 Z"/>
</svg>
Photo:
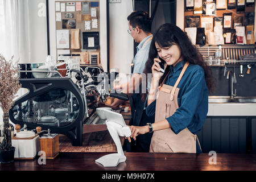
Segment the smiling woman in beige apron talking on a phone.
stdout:
<svg viewBox="0 0 256 182">
<path fill-rule="evenodd" d="M 166 69 L 161 73 L 159 64 L 163 63 Z M 163 24 L 158 28 L 144 73 L 152 73 L 145 107 L 148 116 L 155 114 L 155 123 L 130 126 L 131 138 L 154 131 L 150 152 L 201 152 L 195 133 L 207 117 L 213 77 L 197 48 L 179 27 Z"/>
</svg>

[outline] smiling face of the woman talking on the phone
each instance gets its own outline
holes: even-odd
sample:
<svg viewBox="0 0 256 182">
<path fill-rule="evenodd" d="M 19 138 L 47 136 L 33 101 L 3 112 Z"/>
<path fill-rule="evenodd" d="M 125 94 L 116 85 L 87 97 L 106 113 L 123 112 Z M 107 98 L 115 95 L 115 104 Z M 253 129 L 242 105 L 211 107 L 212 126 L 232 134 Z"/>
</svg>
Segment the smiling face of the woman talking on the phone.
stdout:
<svg viewBox="0 0 256 182">
<path fill-rule="evenodd" d="M 176 65 L 183 59 L 181 56 L 180 47 L 176 44 L 170 47 L 160 47 L 158 43 L 155 42 L 156 51 L 161 59 L 166 61 L 167 65 Z"/>
</svg>

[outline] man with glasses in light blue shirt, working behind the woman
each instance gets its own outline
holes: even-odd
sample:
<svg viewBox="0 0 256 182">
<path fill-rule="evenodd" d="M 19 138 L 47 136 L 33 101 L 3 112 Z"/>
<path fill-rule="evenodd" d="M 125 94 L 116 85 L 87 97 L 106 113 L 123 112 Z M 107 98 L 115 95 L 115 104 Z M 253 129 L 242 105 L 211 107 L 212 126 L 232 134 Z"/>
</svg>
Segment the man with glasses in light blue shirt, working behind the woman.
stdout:
<svg viewBox="0 0 256 182">
<path fill-rule="evenodd" d="M 134 57 L 133 75 L 128 83 L 116 85 L 114 88 L 119 92 L 126 93 L 130 97 L 131 117 L 130 125 L 144 126 L 146 123 L 154 123 L 154 117 L 149 118 L 144 110 L 144 102 L 141 99 L 141 83 L 146 81 L 142 76 L 148 52 L 152 40 L 151 34 L 151 18 L 145 11 L 134 11 L 128 17 L 128 33 L 133 37 L 134 41 L 139 43 L 137 53 Z M 146 85 L 146 83 L 144 83 Z M 138 92 L 138 90 L 140 90 Z M 145 90 L 145 89 L 144 89 Z M 111 107 L 118 107 L 122 104 L 122 100 L 115 98 Z M 139 135 L 136 141 L 131 143 L 131 151 L 148 152 L 150 147 L 152 133 Z"/>
</svg>

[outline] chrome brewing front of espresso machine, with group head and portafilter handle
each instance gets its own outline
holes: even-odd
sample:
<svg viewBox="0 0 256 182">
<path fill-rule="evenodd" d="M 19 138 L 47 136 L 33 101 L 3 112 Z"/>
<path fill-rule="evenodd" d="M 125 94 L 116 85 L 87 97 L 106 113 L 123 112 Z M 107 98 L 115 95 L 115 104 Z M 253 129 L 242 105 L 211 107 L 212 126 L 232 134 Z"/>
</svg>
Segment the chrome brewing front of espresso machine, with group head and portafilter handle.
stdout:
<svg viewBox="0 0 256 182">
<path fill-rule="evenodd" d="M 86 73 L 89 73 L 89 75 Z M 76 79 L 78 80 L 76 84 L 80 85 L 80 90 L 82 90 L 82 79 L 84 78 L 84 88 L 86 98 L 90 101 L 88 102 L 88 115 L 84 121 L 84 125 L 105 125 L 106 119 L 100 118 L 97 114 L 97 108 L 101 107 L 102 104 L 105 104 L 108 97 L 119 98 L 121 100 L 128 101 L 129 97 L 124 93 L 115 93 L 113 88 L 113 82 L 118 73 L 104 73 L 102 69 L 97 67 L 86 67 L 85 71 L 82 73 L 78 73 L 76 75 Z M 83 93 L 83 92 L 82 92 Z M 114 110 L 117 113 L 121 113 L 121 109 Z M 94 128 L 97 128 L 95 126 Z M 100 127 L 98 130 L 101 131 Z"/>
</svg>

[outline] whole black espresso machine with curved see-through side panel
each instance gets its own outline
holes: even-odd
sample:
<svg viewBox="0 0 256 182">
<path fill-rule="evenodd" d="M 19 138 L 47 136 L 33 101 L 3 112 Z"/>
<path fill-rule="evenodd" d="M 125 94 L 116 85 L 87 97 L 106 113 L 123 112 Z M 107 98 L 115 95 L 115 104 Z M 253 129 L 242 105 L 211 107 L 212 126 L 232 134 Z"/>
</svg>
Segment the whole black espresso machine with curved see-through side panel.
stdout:
<svg viewBox="0 0 256 182">
<path fill-rule="evenodd" d="M 29 75 L 33 71 L 23 71 Z M 82 146 L 84 125 L 97 125 L 96 109 L 107 98 L 129 100 L 123 93 L 115 93 L 112 88 L 116 73 L 103 72 L 98 67 L 85 70 L 71 69 L 71 77 L 20 78 L 22 88 L 28 93 L 15 100 L 9 110 L 9 117 L 15 124 L 28 130 L 42 127 L 52 133 L 64 134 L 73 146 Z M 121 112 L 117 110 L 117 112 Z M 93 122 L 92 122 L 93 121 Z M 101 125 L 105 125 L 101 121 Z"/>
</svg>

